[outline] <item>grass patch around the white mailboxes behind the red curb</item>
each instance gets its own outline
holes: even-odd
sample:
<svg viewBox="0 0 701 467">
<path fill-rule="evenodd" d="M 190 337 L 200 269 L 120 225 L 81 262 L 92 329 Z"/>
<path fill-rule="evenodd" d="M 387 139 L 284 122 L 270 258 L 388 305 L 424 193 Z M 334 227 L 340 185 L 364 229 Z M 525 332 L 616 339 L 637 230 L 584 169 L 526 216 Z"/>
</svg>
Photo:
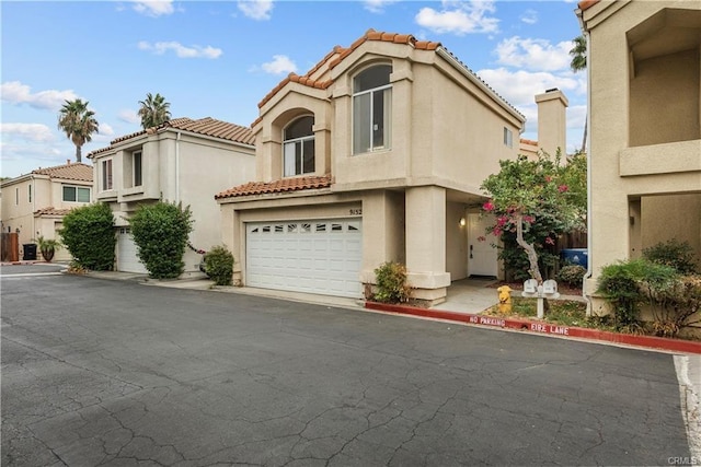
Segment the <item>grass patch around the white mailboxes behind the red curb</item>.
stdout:
<svg viewBox="0 0 701 467">
<path fill-rule="evenodd" d="M 610 330 L 616 328 L 609 316 L 587 316 L 587 305 L 574 300 L 549 300 L 550 310 L 545 312 L 543 320 L 560 326 L 574 326 L 590 329 Z M 515 296 L 512 299 L 512 313 L 499 312 L 498 305 L 482 312 L 489 316 L 518 317 L 538 319 L 537 299 Z"/>
</svg>

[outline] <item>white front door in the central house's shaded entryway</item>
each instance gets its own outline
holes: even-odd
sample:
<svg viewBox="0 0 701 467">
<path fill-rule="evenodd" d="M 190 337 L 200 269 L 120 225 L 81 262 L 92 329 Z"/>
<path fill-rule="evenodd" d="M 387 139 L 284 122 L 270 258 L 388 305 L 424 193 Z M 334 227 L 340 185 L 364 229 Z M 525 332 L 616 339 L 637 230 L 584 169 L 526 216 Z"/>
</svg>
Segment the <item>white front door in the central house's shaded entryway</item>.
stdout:
<svg viewBox="0 0 701 467">
<path fill-rule="evenodd" d="M 497 276 L 497 238 L 486 233 L 493 224 L 492 215 L 468 214 L 468 276 Z"/>
</svg>

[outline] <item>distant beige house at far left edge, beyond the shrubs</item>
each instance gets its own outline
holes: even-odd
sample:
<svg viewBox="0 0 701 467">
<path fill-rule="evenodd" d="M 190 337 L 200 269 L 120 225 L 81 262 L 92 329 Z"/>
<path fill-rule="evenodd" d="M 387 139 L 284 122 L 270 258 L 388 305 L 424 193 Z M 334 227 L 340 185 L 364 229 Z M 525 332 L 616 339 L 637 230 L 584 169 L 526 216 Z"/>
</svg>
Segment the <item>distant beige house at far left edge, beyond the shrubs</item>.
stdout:
<svg viewBox="0 0 701 467">
<path fill-rule="evenodd" d="M 38 236 L 60 241 L 64 215 L 91 202 L 92 183 L 92 166 L 70 161 L 2 182 L 2 232 L 18 233 L 20 247 L 35 243 Z M 24 256 L 19 255 L 20 259 Z M 38 253 L 37 259 L 42 259 Z M 65 247 L 54 257 L 68 259 Z"/>
</svg>

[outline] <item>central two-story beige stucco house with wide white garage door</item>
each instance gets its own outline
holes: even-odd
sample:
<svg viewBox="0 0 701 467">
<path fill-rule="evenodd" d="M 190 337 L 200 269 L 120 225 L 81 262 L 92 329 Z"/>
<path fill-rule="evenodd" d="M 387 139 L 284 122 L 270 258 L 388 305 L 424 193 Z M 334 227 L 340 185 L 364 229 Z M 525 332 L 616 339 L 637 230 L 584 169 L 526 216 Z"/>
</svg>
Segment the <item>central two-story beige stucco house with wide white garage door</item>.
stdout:
<svg viewBox="0 0 701 467">
<path fill-rule="evenodd" d="M 241 283 L 360 297 L 394 260 L 439 303 L 497 276 L 480 185 L 525 118 L 439 43 L 370 30 L 258 107 L 257 178 L 216 197 Z"/>
</svg>

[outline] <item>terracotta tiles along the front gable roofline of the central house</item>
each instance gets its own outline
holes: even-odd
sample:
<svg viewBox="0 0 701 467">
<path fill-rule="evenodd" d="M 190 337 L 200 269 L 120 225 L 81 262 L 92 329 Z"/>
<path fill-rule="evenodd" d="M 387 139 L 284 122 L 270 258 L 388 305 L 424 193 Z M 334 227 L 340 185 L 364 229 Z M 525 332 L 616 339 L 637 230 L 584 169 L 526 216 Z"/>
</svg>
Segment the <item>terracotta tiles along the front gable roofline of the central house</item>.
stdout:
<svg viewBox="0 0 701 467">
<path fill-rule="evenodd" d="M 382 33 L 377 32 L 375 30 L 368 30 L 365 35 L 358 38 L 356 42 L 350 44 L 350 47 L 344 48 L 341 46 L 335 46 L 333 50 L 331 50 L 324 58 L 321 59 L 311 70 L 309 70 L 303 75 L 298 75 L 296 73 L 289 73 L 287 78 L 279 82 L 269 93 L 263 97 L 263 100 L 258 103 L 258 108 L 263 107 L 265 103 L 267 103 L 279 90 L 285 87 L 288 83 L 299 83 L 310 87 L 317 87 L 325 90 L 331 84 L 333 84 L 332 80 L 314 80 L 311 77 L 319 71 L 324 65 L 329 66 L 329 69 L 333 69 L 338 63 L 341 63 L 347 56 L 349 56 L 355 49 L 360 47 L 368 40 L 381 40 L 387 43 L 394 44 L 406 44 L 420 50 L 435 50 L 440 47 L 440 43 L 434 43 L 429 40 L 416 40 L 414 36 L 411 34 L 397 34 L 397 33 Z M 256 121 L 254 121 L 251 126 L 254 126 Z"/>
</svg>

